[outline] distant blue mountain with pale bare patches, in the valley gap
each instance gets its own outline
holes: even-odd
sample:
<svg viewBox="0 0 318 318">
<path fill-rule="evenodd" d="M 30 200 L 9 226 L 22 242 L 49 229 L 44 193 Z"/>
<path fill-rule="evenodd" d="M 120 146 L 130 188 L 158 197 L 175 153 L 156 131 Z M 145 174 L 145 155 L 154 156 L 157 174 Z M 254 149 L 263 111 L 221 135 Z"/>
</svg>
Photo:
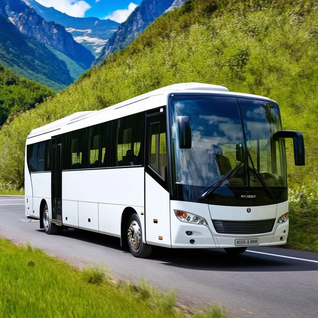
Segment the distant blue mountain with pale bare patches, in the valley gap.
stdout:
<svg viewBox="0 0 318 318">
<path fill-rule="evenodd" d="M 71 17 L 65 13 L 47 8 L 35 0 L 23 0 L 46 21 L 55 21 L 66 28 L 78 43 L 84 45 L 98 56 L 107 39 L 118 29 L 119 23 L 112 20 L 100 20 L 95 17 Z"/>
</svg>

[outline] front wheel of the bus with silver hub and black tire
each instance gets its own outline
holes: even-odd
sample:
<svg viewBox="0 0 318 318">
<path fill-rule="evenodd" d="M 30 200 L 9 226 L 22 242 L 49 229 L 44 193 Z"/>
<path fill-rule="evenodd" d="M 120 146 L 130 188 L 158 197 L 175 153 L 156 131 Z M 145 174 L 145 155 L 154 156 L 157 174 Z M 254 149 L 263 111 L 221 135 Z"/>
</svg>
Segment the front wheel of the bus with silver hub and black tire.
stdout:
<svg viewBox="0 0 318 318">
<path fill-rule="evenodd" d="M 127 232 L 130 252 L 138 258 L 149 257 L 153 246 L 142 242 L 142 228 L 137 213 L 131 215 L 127 224 Z"/>
</svg>

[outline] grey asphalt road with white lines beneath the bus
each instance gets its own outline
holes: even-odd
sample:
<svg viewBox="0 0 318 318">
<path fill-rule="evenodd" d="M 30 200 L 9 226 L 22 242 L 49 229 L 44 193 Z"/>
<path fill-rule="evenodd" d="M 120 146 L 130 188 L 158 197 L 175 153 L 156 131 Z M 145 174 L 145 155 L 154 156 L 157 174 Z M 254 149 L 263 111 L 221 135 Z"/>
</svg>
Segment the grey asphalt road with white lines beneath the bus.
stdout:
<svg viewBox="0 0 318 318">
<path fill-rule="evenodd" d="M 237 257 L 221 249 L 157 248 L 136 259 L 118 238 L 81 230 L 46 235 L 27 222 L 23 197 L 0 197 L 0 236 L 64 259 L 75 266 L 102 264 L 115 276 L 178 291 L 199 308 L 220 304 L 238 317 L 318 317 L 318 254 L 282 248 L 251 248 Z M 275 254 L 275 255 L 268 255 Z"/>
</svg>

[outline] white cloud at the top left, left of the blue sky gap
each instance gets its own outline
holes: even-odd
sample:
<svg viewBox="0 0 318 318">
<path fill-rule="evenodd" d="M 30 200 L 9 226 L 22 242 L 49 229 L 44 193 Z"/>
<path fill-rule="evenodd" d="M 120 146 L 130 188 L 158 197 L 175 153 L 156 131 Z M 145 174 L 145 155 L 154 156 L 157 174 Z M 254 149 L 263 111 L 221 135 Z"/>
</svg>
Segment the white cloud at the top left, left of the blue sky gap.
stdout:
<svg viewBox="0 0 318 318">
<path fill-rule="evenodd" d="M 91 7 L 83 0 L 37 0 L 45 7 L 53 7 L 72 17 L 84 17 L 85 12 Z"/>
</svg>

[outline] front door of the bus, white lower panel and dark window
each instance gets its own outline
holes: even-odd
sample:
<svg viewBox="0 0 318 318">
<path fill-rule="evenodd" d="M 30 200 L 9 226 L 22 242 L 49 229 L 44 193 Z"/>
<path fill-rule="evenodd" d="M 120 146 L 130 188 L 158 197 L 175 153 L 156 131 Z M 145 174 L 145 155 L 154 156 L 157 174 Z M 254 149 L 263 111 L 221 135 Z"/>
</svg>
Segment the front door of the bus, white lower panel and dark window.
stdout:
<svg viewBox="0 0 318 318">
<path fill-rule="evenodd" d="M 157 114 L 146 117 L 145 148 L 146 243 L 171 247 L 167 125 L 164 107 Z"/>
</svg>

